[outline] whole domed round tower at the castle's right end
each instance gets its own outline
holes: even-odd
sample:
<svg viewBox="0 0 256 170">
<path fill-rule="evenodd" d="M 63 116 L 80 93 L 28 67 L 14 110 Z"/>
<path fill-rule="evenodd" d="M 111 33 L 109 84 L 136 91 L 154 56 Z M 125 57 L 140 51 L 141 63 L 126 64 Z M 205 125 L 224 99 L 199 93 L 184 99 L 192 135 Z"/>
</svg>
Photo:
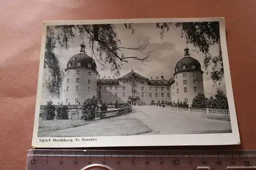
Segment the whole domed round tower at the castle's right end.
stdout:
<svg viewBox="0 0 256 170">
<path fill-rule="evenodd" d="M 172 101 L 189 104 L 199 92 L 204 93 L 203 71 L 199 61 L 189 55 L 187 47 L 184 52 L 184 57 L 175 66 Z"/>
</svg>

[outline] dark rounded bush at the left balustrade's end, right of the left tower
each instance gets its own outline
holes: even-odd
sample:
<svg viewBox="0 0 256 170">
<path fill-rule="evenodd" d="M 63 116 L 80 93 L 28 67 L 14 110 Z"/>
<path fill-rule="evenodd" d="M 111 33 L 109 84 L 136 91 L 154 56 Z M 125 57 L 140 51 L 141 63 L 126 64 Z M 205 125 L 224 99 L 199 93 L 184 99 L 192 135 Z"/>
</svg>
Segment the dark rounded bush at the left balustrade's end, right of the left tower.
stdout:
<svg viewBox="0 0 256 170">
<path fill-rule="evenodd" d="M 95 112 L 98 107 L 97 101 L 98 101 L 98 98 L 95 95 L 93 95 L 92 98 L 88 98 L 82 103 L 82 106 L 81 106 L 82 120 L 89 121 L 95 118 Z"/>
</svg>

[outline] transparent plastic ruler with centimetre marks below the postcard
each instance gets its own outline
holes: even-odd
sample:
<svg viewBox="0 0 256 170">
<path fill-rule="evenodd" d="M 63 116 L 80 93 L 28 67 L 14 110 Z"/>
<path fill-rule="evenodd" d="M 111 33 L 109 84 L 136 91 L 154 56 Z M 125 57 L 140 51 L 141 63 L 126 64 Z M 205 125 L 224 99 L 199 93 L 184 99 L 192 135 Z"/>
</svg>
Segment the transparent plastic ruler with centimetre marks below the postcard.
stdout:
<svg viewBox="0 0 256 170">
<path fill-rule="evenodd" d="M 27 170 L 256 170 L 256 151 L 29 150 Z"/>
</svg>

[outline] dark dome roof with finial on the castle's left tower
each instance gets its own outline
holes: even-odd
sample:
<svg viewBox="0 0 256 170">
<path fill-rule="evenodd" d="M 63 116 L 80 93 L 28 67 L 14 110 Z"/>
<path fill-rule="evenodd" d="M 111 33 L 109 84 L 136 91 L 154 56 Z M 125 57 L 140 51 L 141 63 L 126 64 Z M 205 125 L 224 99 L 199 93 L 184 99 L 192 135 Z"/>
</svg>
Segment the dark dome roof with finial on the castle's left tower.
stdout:
<svg viewBox="0 0 256 170">
<path fill-rule="evenodd" d="M 80 53 L 72 56 L 69 59 L 67 63 L 67 68 L 65 70 L 71 69 L 71 68 L 87 68 L 87 69 L 97 71 L 97 66 L 95 61 L 93 60 L 92 57 L 88 56 L 84 51 L 86 45 L 84 45 L 84 43 L 81 43 L 80 46 L 81 46 Z"/>
</svg>

